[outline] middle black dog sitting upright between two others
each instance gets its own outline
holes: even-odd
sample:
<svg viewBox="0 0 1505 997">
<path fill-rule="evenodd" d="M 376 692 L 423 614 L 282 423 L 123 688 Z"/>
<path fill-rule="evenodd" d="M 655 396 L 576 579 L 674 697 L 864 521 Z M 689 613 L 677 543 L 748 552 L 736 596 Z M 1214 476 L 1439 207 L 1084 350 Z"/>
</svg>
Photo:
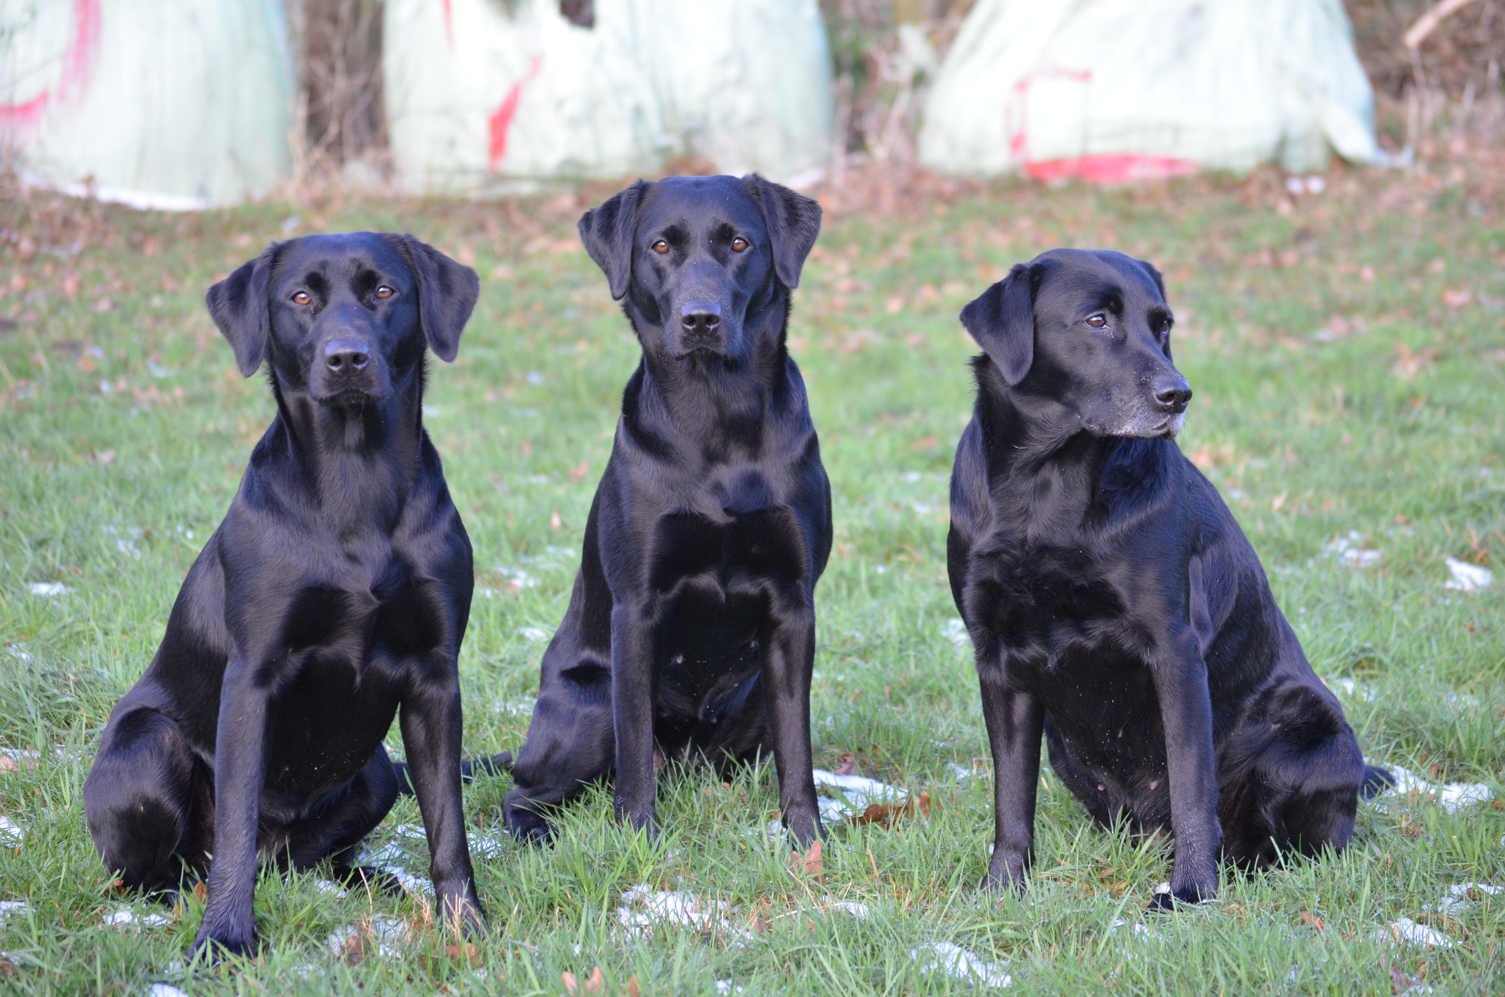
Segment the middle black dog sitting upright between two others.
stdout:
<svg viewBox="0 0 1505 997">
<path fill-rule="evenodd" d="M 831 486 L 784 348 L 820 206 L 752 175 L 638 181 L 579 220 L 643 345 L 585 524 L 564 622 L 504 809 L 616 770 L 617 816 L 653 833 L 656 762 L 772 752 L 795 839 L 822 834 L 810 771 L 814 589 Z"/>
</svg>

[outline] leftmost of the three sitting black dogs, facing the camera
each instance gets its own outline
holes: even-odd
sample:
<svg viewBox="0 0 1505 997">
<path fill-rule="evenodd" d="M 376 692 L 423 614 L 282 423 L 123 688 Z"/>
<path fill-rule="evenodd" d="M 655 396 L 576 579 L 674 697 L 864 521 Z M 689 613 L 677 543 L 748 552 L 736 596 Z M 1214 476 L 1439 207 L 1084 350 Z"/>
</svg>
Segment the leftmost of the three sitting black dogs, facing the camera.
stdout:
<svg viewBox="0 0 1505 997">
<path fill-rule="evenodd" d="M 253 947 L 260 860 L 363 872 L 357 845 L 409 777 L 382 747 L 399 706 L 442 916 L 480 923 L 455 663 L 471 547 L 421 404 L 424 343 L 455 358 L 479 286 L 363 232 L 274 244 L 209 289 L 241 373 L 266 358 L 277 417 L 84 783 L 128 887 L 208 867 L 196 950 Z"/>
</svg>

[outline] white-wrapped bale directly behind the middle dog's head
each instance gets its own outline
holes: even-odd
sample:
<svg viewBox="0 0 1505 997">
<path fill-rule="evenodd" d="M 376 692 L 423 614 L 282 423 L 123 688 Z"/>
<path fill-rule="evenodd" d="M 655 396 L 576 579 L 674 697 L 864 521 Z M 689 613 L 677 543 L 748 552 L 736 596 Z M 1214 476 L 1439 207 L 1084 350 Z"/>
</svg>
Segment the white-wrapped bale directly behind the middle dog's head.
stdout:
<svg viewBox="0 0 1505 997">
<path fill-rule="evenodd" d="M 414 193 L 617 178 L 697 155 L 787 178 L 825 163 L 834 104 L 816 0 L 387 0 L 391 154 Z"/>
</svg>

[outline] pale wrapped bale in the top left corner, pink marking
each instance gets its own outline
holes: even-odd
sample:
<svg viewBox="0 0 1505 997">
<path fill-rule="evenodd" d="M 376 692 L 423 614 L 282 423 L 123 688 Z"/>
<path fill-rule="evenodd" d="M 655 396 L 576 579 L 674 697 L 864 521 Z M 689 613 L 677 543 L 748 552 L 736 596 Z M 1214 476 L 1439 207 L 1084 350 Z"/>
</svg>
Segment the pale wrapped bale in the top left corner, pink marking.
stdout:
<svg viewBox="0 0 1505 997">
<path fill-rule="evenodd" d="M 0 0 L 0 151 L 138 206 L 233 203 L 287 176 L 278 0 Z"/>
</svg>

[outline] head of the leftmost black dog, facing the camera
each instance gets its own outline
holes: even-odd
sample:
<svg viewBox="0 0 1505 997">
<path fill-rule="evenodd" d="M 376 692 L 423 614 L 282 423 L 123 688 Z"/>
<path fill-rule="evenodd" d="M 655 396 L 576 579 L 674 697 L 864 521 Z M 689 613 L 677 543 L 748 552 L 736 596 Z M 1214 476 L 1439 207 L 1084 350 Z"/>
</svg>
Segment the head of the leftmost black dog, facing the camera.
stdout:
<svg viewBox="0 0 1505 997">
<path fill-rule="evenodd" d="M 286 390 L 364 407 L 421 380 L 424 345 L 455 360 L 479 294 L 474 270 L 411 235 L 351 232 L 274 242 L 205 303 L 242 375 L 265 358 Z"/>
</svg>

